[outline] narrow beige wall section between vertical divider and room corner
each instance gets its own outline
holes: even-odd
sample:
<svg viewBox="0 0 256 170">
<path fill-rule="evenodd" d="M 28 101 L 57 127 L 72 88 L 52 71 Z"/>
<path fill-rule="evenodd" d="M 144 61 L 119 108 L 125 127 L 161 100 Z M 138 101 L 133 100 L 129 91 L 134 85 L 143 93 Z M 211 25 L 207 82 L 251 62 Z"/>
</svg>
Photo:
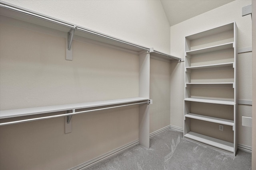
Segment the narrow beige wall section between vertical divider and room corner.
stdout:
<svg viewBox="0 0 256 170">
<path fill-rule="evenodd" d="M 150 59 L 150 133 L 170 125 L 170 63 Z"/>
</svg>

